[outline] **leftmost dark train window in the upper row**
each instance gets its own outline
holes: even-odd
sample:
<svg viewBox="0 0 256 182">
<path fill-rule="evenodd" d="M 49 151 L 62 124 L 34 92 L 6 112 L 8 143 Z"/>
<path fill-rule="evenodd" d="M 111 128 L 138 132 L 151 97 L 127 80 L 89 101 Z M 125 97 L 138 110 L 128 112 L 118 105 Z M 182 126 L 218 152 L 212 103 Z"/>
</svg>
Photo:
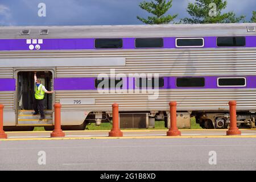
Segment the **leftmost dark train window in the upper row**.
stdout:
<svg viewBox="0 0 256 182">
<path fill-rule="evenodd" d="M 95 48 L 122 48 L 122 39 L 95 39 Z"/>
</svg>

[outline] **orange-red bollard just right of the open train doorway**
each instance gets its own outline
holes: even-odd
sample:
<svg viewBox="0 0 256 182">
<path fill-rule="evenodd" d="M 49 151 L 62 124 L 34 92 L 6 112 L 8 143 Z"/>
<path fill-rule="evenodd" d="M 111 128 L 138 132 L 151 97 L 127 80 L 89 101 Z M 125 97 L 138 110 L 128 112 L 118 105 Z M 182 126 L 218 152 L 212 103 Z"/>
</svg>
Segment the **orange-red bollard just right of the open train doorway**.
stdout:
<svg viewBox="0 0 256 182">
<path fill-rule="evenodd" d="M 54 130 L 51 133 L 51 137 L 65 137 L 65 133 L 61 130 L 60 125 L 60 103 L 55 103 L 54 105 Z"/>
</svg>

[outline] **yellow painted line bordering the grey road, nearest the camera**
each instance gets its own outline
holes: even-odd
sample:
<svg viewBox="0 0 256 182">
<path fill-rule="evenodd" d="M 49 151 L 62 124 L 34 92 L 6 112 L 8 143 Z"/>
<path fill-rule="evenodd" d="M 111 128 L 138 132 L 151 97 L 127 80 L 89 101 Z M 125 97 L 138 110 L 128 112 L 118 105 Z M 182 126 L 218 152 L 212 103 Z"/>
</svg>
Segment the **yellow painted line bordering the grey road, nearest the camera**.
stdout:
<svg viewBox="0 0 256 182">
<path fill-rule="evenodd" d="M 56 138 L 10 138 L 0 139 L 0 141 L 20 141 L 20 140 L 72 140 L 72 139 L 171 139 L 171 138 L 256 138 L 256 135 L 186 135 L 177 137 L 150 136 L 150 137 L 56 137 Z"/>
</svg>

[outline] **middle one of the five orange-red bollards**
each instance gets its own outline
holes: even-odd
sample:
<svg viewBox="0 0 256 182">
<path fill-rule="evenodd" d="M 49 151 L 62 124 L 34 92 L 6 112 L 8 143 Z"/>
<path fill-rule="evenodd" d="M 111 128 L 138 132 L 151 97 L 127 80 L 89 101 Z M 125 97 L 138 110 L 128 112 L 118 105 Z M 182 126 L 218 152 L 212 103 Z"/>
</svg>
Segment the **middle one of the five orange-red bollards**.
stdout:
<svg viewBox="0 0 256 182">
<path fill-rule="evenodd" d="M 112 114 L 113 114 L 113 127 L 109 132 L 109 137 L 123 137 L 122 131 L 119 129 L 119 113 L 118 113 L 118 104 L 114 103 L 112 105 Z"/>
</svg>

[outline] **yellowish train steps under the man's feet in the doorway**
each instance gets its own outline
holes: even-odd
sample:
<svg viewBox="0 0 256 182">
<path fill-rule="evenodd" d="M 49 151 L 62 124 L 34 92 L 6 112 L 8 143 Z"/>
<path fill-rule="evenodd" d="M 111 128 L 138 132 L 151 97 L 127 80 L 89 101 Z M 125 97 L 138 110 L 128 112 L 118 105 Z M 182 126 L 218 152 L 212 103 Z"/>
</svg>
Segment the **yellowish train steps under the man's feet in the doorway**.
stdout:
<svg viewBox="0 0 256 182">
<path fill-rule="evenodd" d="M 44 110 L 46 119 L 43 119 L 42 121 L 39 120 L 40 114 L 32 115 L 32 112 L 34 112 L 34 110 L 19 110 L 18 125 L 52 125 L 52 110 Z"/>
</svg>

